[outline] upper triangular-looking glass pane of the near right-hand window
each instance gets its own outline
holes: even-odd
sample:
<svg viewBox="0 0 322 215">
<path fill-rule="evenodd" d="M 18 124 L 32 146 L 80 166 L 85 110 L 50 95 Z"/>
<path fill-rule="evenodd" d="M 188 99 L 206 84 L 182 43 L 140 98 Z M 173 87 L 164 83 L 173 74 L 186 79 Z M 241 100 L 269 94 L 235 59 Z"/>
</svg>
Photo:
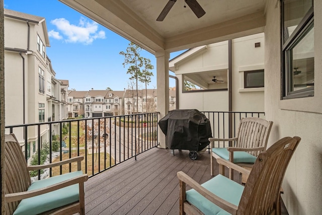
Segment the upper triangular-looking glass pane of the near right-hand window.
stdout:
<svg viewBox="0 0 322 215">
<path fill-rule="evenodd" d="M 312 2 L 312 0 L 284 0 L 284 42 L 312 7 Z"/>
</svg>

